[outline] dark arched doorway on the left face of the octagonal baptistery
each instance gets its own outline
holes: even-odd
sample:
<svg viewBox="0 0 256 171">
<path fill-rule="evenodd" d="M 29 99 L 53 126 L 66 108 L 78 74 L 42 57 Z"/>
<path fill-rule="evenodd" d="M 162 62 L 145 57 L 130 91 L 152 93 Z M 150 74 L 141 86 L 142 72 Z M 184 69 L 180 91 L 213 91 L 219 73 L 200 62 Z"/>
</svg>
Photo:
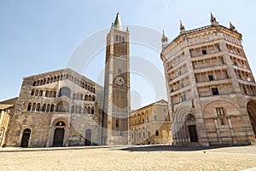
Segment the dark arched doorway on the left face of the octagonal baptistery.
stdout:
<svg viewBox="0 0 256 171">
<path fill-rule="evenodd" d="M 190 142 L 198 142 L 195 117 L 192 114 L 189 114 L 188 117 L 186 118 L 185 125 L 189 130 Z"/>
</svg>

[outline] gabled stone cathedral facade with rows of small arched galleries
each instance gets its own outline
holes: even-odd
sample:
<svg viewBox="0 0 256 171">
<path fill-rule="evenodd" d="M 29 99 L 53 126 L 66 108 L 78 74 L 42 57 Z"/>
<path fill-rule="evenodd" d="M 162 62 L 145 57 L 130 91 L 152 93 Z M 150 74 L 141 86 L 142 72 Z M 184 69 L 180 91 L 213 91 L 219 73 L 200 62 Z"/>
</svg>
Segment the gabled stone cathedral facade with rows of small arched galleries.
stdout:
<svg viewBox="0 0 256 171">
<path fill-rule="evenodd" d="M 24 77 L 5 146 L 100 145 L 102 91 L 71 69 Z"/>
</svg>

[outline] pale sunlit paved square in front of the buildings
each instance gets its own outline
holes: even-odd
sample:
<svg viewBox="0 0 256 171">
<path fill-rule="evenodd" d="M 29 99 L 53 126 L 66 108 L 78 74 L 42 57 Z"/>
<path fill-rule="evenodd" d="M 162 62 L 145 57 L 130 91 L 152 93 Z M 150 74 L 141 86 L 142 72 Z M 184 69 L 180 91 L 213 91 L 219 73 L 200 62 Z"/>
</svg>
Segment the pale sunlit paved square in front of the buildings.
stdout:
<svg viewBox="0 0 256 171">
<path fill-rule="evenodd" d="M 256 170 L 256 145 L 3 148 L 0 156 L 1 170 Z"/>
</svg>

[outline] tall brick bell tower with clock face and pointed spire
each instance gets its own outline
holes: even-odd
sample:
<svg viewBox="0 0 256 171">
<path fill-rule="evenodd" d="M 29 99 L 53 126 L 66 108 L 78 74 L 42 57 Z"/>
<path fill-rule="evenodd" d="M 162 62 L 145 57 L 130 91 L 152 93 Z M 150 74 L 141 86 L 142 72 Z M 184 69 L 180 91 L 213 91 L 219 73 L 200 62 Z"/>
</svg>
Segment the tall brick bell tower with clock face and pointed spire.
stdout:
<svg viewBox="0 0 256 171">
<path fill-rule="evenodd" d="M 108 32 L 103 102 L 103 145 L 128 144 L 130 102 L 130 38 L 119 13 Z"/>
</svg>

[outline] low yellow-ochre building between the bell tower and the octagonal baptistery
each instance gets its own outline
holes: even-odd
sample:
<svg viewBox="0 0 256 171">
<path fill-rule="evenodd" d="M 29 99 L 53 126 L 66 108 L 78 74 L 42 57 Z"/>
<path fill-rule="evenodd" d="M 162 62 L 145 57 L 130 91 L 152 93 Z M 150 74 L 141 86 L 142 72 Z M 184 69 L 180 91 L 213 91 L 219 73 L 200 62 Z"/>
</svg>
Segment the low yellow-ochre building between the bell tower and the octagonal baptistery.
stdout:
<svg viewBox="0 0 256 171">
<path fill-rule="evenodd" d="M 171 144 L 171 122 L 166 100 L 131 111 L 130 129 L 131 144 Z"/>
</svg>

